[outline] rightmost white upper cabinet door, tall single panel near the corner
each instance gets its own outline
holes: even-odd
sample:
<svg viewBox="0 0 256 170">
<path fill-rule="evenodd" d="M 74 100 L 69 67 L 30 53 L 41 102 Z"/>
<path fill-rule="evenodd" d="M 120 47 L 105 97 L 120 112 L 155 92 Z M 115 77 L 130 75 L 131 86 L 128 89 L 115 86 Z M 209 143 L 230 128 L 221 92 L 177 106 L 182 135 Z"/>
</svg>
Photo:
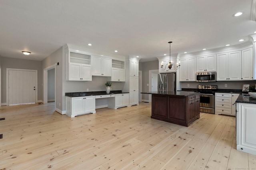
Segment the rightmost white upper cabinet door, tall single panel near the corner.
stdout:
<svg viewBox="0 0 256 170">
<path fill-rule="evenodd" d="M 252 48 L 242 50 L 242 80 L 253 80 Z"/>
</svg>

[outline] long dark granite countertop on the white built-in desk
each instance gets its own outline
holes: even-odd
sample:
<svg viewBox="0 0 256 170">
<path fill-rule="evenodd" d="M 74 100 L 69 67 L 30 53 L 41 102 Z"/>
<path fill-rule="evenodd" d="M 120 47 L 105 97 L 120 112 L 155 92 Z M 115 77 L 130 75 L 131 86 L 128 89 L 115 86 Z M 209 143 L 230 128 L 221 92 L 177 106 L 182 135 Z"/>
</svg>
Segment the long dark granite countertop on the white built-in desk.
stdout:
<svg viewBox="0 0 256 170">
<path fill-rule="evenodd" d="M 123 94 L 129 92 L 122 92 L 122 90 L 112 90 L 109 94 Z M 97 95 L 107 95 L 106 91 L 97 91 L 97 92 L 70 92 L 65 93 L 67 97 L 80 97 L 80 96 L 97 96 Z"/>
</svg>

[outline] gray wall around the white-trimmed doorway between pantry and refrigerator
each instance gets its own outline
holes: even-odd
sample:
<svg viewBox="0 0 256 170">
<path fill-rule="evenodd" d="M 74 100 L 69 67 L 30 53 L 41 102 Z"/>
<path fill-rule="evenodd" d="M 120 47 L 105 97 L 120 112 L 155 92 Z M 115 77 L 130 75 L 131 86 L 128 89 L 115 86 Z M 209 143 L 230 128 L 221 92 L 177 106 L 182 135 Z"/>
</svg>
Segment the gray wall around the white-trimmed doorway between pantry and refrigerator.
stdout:
<svg viewBox="0 0 256 170">
<path fill-rule="evenodd" d="M 142 92 L 148 92 L 149 70 L 158 70 L 158 60 L 139 63 L 139 70 L 142 70 Z M 148 94 L 142 94 L 142 100 L 149 100 Z"/>
</svg>

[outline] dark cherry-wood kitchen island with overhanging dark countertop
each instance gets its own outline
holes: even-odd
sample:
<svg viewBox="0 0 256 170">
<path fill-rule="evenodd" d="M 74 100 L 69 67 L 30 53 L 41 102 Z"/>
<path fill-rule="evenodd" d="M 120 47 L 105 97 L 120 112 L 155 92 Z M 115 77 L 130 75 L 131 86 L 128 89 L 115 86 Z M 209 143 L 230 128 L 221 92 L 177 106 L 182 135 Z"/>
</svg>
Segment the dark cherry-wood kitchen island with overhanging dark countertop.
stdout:
<svg viewBox="0 0 256 170">
<path fill-rule="evenodd" d="M 152 94 L 151 118 L 188 127 L 200 118 L 200 93 L 198 92 L 142 92 Z"/>
</svg>

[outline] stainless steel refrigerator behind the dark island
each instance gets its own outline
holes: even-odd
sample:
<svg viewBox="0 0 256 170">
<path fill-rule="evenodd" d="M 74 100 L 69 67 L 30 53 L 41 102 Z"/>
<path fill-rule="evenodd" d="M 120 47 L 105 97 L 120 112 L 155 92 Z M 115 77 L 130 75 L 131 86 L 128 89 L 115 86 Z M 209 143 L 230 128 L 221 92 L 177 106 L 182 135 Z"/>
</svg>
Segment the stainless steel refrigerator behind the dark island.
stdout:
<svg viewBox="0 0 256 170">
<path fill-rule="evenodd" d="M 176 92 L 176 72 L 158 74 L 158 91 Z"/>
</svg>

